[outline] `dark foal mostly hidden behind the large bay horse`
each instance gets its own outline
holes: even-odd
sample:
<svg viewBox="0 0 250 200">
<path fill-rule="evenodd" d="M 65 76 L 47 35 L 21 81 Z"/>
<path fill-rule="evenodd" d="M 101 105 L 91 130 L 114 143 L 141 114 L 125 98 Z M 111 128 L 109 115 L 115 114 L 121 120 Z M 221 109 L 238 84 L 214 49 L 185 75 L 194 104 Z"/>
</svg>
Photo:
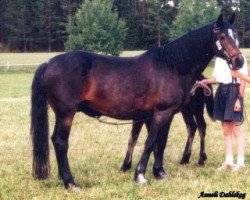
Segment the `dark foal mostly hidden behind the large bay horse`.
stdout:
<svg viewBox="0 0 250 200">
<path fill-rule="evenodd" d="M 204 78 L 205 77 L 202 75 L 198 80 L 201 81 Z M 213 89 L 211 85 L 208 85 L 208 87 L 211 90 L 211 93 L 209 95 L 204 94 L 203 88 L 197 88 L 194 95 L 190 96 L 190 101 L 186 105 L 184 105 L 181 110 L 181 114 L 188 132 L 186 146 L 182 155 L 182 159 L 180 161 L 181 164 L 187 164 L 189 162 L 192 151 L 192 144 L 197 129 L 200 135 L 200 158 L 198 164 L 203 166 L 207 159 L 207 155 L 205 152 L 205 136 L 207 125 L 204 118 L 204 107 L 206 105 L 208 116 L 211 119 L 213 118 L 214 109 L 214 97 L 212 92 Z M 149 131 L 150 123 L 150 120 L 146 120 L 146 122 L 140 121 L 133 124 L 126 156 L 121 166 L 121 171 L 126 172 L 127 170 L 131 169 L 134 147 L 138 140 L 142 126 L 143 124 L 145 124 L 147 131 Z"/>
</svg>

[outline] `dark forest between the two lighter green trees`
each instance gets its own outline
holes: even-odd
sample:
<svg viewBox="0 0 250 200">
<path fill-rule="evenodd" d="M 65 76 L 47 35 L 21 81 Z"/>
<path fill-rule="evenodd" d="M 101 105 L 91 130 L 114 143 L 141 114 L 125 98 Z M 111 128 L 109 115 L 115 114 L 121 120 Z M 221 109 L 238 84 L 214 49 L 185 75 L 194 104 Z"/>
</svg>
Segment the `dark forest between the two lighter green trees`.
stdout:
<svg viewBox="0 0 250 200">
<path fill-rule="evenodd" d="M 178 1 L 174 1 L 177 5 Z M 126 20 L 125 48 L 148 49 L 169 41 L 169 28 L 176 7 L 168 0 L 115 0 L 119 16 Z"/>
</svg>

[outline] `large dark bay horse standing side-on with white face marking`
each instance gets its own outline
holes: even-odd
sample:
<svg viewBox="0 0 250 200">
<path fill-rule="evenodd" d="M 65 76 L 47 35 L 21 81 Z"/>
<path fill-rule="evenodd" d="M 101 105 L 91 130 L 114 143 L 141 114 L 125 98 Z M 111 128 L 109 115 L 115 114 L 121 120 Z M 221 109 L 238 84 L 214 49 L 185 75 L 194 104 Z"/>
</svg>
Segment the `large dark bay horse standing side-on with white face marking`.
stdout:
<svg viewBox="0 0 250 200">
<path fill-rule="evenodd" d="M 77 189 L 68 162 L 68 139 L 77 111 L 91 117 L 105 115 L 122 120 L 151 118 L 145 148 L 135 170 L 135 181 L 146 183 L 144 174 L 154 149 L 154 175 L 163 179 L 163 153 L 175 113 L 182 109 L 195 80 L 217 55 L 234 69 L 244 60 L 235 40 L 234 16 L 191 31 L 140 56 L 119 58 L 73 51 L 43 63 L 32 83 L 31 135 L 33 176 L 47 178 L 49 133 L 47 105 L 56 117 L 52 142 L 59 176 L 66 188 Z"/>
</svg>

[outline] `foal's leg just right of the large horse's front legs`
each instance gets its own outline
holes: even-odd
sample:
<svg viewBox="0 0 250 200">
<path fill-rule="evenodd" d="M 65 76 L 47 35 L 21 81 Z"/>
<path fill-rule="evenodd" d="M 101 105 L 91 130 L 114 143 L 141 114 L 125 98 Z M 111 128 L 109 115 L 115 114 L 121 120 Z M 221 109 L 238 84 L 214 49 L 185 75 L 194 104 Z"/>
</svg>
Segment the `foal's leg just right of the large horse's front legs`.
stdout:
<svg viewBox="0 0 250 200">
<path fill-rule="evenodd" d="M 183 164 L 189 163 L 197 125 L 195 123 L 192 112 L 188 108 L 184 108 L 182 110 L 182 116 L 183 116 L 184 122 L 187 127 L 187 132 L 188 132 L 186 146 L 182 155 L 182 159 L 180 161 L 180 163 L 183 165 Z"/>
</svg>

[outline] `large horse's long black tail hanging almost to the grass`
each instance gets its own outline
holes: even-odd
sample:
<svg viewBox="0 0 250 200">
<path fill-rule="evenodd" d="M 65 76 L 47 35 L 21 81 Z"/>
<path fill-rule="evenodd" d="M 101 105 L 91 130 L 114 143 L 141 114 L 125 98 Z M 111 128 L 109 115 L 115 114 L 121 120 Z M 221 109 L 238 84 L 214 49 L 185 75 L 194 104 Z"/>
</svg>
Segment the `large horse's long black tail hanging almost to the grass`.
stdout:
<svg viewBox="0 0 250 200">
<path fill-rule="evenodd" d="M 33 145 L 33 177 L 45 179 L 50 173 L 48 103 L 42 88 L 42 77 L 47 64 L 36 71 L 31 94 L 31 136 Z"/>
</svg>

